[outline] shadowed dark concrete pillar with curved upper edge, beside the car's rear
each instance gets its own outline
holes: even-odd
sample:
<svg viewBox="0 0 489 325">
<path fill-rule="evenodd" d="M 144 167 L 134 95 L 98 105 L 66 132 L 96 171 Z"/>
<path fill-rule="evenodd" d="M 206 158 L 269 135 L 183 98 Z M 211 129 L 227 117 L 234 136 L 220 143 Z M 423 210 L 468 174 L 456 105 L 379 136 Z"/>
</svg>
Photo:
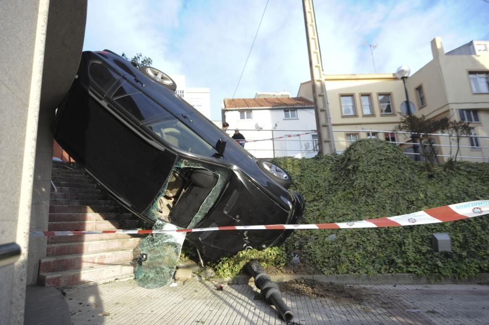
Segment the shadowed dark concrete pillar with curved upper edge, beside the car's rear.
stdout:
<svg viewBox="0 0 489 325">
<path fill-rule="evenodd" d="M 47 230 L 53 156 L 53 135 L 50 126 L 55 109 L 69 90 L 78 70 L 86 18 L 86 0 L 51 0 L 49 3 L 32 192 L 32 231 Z M 42 237 L 30 240 L 27 284 L 37 282 L 39 260 L 46 256 L 46 241 L 47 239 Z"/>
</svg>

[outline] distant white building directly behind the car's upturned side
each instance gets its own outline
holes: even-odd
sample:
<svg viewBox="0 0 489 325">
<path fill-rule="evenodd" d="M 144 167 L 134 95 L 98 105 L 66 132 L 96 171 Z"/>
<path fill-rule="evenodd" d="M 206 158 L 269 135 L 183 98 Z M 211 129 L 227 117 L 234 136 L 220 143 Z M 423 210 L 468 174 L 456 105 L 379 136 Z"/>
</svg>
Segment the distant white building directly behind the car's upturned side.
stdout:
<svg viewBox="0 0 489 325">
<path fill-rule="evenodd" d="M 175 75 L 172 76 L 172 79 L 177 84 L 177 94 L 210 120 L 211 95 L 209 88 L 187 87 L 185 75 Z"/>
</svg>

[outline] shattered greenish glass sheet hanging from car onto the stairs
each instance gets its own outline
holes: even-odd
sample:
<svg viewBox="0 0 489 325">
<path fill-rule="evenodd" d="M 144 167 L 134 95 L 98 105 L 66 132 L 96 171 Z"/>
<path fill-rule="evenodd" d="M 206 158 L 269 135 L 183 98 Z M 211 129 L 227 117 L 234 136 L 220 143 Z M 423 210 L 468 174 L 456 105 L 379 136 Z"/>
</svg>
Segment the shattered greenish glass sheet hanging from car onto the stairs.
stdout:
<svg viewBox="0 0 489 325">
<path fill-rule="evenodd" d="M 153 230 L 160 229 L 176 230 L 178 227 L 157 220 Z M 146 254 L 147 260 L 140 261 L 137 265 L 136 282 L 139 286 L 153 289 L 172 282 L 185 234 L 177 232 L 150 234 L 141 241 L 141 256 Z"/>
</svg>

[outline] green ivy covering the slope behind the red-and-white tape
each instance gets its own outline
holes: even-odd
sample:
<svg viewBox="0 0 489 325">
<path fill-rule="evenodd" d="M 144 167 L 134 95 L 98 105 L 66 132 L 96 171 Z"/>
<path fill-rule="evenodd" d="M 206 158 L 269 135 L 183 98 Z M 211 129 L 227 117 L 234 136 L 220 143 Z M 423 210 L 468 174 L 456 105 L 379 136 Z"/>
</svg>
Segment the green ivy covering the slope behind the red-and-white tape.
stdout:
<svg viewBox="0 0 489 325">
<path fill-rule="evenodd" d="M 457 162 L 426 171 L 398 147 L 360 140 L 342 155 L 276 158 L 307 201 L 303 223 L 390 217 L 489 198 L 489 164 Z M 489 218 L 409 227 L 295 231 L 286 256 L 300 251 L 324 274 L 414 273 L 463 279 L 489 271 Z M 431 234 L 447 232 L 451 253 L 435 253 Z M 336 234 L 336 239 L 328 237 Z"/>
</svg>

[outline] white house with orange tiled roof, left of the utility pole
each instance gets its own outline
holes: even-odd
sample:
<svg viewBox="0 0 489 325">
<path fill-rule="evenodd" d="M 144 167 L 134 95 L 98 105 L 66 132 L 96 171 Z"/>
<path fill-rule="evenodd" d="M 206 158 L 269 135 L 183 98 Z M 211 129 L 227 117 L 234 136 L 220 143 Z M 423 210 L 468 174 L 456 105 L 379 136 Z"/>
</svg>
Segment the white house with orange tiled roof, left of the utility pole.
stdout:
<svg viewBox="0 0 489 325">
<path fill-rule="evenodd" d="M 224 99 L 228 133 L 246 138 L 244 148 L 258 158 L 312 157 L 317 151 L 314 104 L 301 97 Z"/>
</svg>

